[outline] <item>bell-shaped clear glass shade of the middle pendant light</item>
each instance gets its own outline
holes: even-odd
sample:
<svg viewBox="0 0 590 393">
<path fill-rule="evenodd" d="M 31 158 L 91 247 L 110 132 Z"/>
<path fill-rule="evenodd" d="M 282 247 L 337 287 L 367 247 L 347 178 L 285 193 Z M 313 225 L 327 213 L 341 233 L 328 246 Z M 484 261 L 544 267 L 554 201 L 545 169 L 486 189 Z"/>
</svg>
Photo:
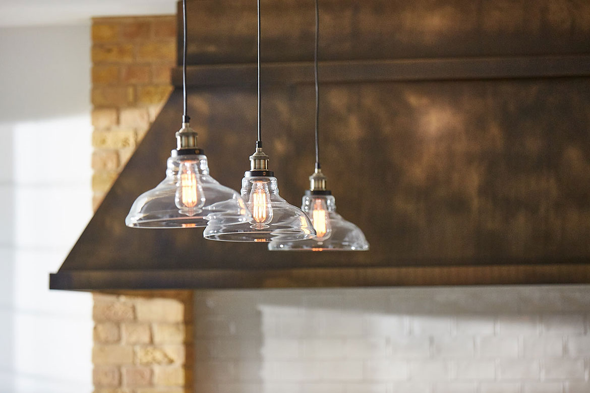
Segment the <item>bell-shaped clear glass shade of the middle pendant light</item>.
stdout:
<svg viewBox="0 0 590 393">
<path fill-rule="evenodd" d="M 277 179 L 272 176 L 246 176 L 241 197 L 251 217 L 236 223 L 223 212 L 214 212 L 203 236 L 226 242 L 291 242 L 312 239 L 316 235 L 309 217 L 278 194 Z"/>
</svg>

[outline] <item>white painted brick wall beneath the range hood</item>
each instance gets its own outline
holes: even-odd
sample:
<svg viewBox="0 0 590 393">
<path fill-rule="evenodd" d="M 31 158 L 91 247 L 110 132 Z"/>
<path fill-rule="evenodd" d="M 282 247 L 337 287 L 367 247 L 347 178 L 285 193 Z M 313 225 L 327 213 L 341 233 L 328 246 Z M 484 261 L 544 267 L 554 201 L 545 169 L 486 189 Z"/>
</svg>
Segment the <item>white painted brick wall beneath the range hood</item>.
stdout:
<svg viewBox="0 0 590 393">
<path fill-rule="evenodd" d="M 197 393 L 590 393 L 590 286 L 199 290 Z"/>
</svg>

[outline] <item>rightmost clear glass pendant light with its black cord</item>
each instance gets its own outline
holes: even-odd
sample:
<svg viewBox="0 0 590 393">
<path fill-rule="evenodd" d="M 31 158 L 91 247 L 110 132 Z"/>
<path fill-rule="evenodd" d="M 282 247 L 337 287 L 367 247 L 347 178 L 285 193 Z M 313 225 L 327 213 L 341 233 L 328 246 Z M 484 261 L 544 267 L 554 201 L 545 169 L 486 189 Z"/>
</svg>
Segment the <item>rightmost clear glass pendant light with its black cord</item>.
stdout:
<svg viewBox="0 0 590 393">
<path fill-rule="evenodd" d="M 301 242 L 277 239 L 268 245 L 271 251 L 365 251 L 369 243 L 362 230 L 336 213 L 336 200 L 326 189 L 326 176 L 320 166 L 319 114 L 320 95 L 317 70 L 317 49 L 319 46 L 319 5 L 316 0 L 316 39 L 314 47 L 314 80 L 316 86 L 316 169 L 309 177 L 309 190 L 303 196 L 301 209 L 312 220 L 317 236 Z"/>
</svg>

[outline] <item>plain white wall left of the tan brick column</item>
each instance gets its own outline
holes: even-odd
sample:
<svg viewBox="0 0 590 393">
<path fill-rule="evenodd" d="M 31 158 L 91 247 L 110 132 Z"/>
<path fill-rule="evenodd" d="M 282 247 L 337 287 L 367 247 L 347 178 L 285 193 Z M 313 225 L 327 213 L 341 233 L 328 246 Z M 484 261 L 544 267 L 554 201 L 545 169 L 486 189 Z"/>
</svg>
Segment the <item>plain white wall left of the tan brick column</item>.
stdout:
<svg viewBox="0 0 590 393">
<path fill-rule="evenodd" d="M 0 392 L 90 392 L 92 302 L 48 290 L 91 217 L 90 24 L 0 28 Z"/>
</svg>

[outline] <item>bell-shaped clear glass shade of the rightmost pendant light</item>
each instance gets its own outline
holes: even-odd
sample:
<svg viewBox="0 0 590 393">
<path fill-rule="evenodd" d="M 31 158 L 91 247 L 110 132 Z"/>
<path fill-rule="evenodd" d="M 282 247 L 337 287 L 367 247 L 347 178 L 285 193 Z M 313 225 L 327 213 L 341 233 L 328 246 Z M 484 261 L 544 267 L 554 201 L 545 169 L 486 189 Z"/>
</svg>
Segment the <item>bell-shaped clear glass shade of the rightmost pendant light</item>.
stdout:
<svg viewBox="0 0 590 393">
<path fill-rule="evenodd" d="M 332 195 L 306 195 L 301 209 L 309 215 L 317 232 L 314 239 L 289 242 L 281 239 L 268 244 L 271 251 L 366 251 L 369 243 L 362 230 L 336 213 Z"/>
</svg>

